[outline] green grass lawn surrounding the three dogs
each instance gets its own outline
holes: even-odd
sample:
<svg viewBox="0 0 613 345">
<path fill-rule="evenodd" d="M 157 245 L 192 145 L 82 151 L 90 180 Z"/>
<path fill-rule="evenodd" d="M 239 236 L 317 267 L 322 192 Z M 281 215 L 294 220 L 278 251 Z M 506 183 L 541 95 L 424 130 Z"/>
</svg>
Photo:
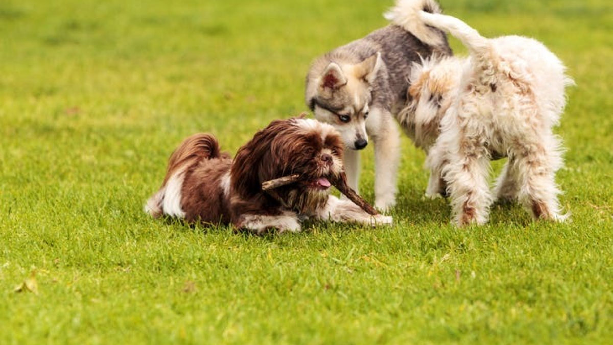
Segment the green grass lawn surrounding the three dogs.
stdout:
<svg viewBox="0 0 613 345">
<path fill-rule="evenodd" d="M 311 60 L 391 5 L 1 0 L 0 344 L 611 344 L 610 0 L 442 1 L 568 65 L 571 223 L 496 206 L 451 227 L 406 138 L 394 227 L 257 237 L 143 212 L 181 139 L 210 131 L 235 152 L 299 114 Z M 364 162 L 372 201 L 371 148 Z"/>
</svg>

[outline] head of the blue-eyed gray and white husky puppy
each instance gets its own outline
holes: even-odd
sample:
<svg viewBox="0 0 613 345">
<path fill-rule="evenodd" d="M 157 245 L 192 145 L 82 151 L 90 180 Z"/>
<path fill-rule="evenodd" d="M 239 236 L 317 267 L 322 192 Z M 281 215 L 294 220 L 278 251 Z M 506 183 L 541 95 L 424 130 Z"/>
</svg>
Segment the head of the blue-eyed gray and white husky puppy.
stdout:
<svg viewBox="0 0 613 345">
<path fill-rule="evenodd" d="M 314 83 L 308 99 L 315 118 L 333 125 L 345 147 L 361 150 L 368 145 L 366 119 L 371 103 L 371 84 L 381 64 L 379 53 L 357 64 L 329 63 Z"/>
</svg>

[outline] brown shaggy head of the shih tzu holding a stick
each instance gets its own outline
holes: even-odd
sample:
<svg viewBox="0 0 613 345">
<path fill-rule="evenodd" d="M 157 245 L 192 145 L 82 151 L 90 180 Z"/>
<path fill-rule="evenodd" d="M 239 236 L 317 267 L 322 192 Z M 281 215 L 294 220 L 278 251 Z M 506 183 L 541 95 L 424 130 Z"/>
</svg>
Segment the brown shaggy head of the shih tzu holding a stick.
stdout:
<svg viewBox="0 0 613 345">
<path fill-rule="evenodd" d="M 341 179 L 343 142 L 330 125 L 306 118 L 270 123 L 237 153 L 232 166 L 234 192 L 249 197 L 264 181 L 299 174 L 300 182 L 277 188 L 284 207 L 311 213 L 326 203 Z"/>
</svg>

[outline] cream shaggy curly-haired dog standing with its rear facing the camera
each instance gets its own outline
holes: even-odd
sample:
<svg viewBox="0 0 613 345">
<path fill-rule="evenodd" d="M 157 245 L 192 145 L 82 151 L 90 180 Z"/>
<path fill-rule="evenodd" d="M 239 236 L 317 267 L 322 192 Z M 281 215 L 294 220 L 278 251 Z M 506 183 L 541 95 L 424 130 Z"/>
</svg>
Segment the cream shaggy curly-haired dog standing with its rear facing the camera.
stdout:
<svg viewBox="0 0 613 345">
<path fill-rule="evenodd" d="M 552 133 L 573 84 L 565 66 L 534 39 L 487 39 L 457 18 L 420 12 L 468 48 L 467 58 L 428 58 L 411 69 L 400 122 L 416 133 L 431 170 L 428 196 L 449 195 L 455 223 L 487 222 L 493 200 L 519 201 L 536 219 L 563 221 Z M 508 157 L 492 195 L 489 161 Z"/>
</svg>

